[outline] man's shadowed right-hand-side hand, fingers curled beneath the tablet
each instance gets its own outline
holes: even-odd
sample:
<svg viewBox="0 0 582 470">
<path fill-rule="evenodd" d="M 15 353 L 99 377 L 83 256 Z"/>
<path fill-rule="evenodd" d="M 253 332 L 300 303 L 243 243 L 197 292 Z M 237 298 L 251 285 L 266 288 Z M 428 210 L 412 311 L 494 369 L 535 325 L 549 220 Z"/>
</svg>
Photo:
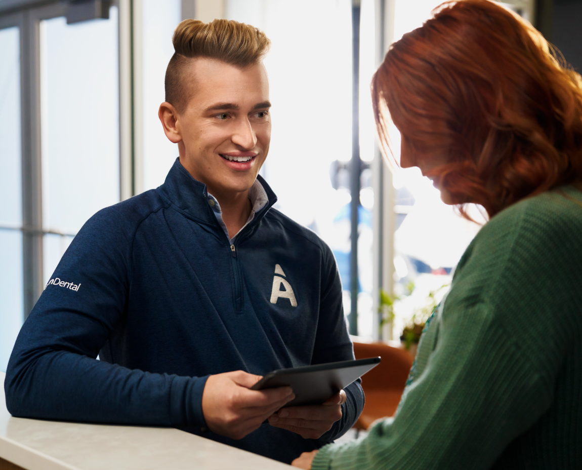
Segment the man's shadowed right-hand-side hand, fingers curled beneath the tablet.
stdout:
<svg viewBox="0 0 582 470">
<path fill-rule="evenodd" d="M 269 418 L 269 424 L 299 434 L 304 439 L 318 439 L 342 417 L 346 393 L 340 390 L 323 405 L 280 409 Z"/>
</svg>

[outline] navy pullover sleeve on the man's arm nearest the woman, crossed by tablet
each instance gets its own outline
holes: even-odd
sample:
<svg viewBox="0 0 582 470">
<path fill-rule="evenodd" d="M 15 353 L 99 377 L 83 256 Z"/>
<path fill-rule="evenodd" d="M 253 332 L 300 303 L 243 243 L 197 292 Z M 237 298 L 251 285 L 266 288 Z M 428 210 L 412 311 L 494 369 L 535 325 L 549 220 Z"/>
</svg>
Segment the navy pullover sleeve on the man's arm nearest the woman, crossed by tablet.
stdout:
<svg viewBox="0 0 582 470">
<path fill-rule="evenodd" d="M 347 333 L 343 314 L 342 281 L 333 253 L 327 245 L 324 245 L 324 248 L 320 320 L 315 337 L 313 364 L 354 359 L 353 344 Z M 319 441 L 322 444 L 343 436 L 353 426 L 364 408 L 364 391 L 360 379 L 347 386 L 345 392 L 346 402 L 342 405 L 342 418 L 333 423 L 332 428 L 320 437 Z"/>
</svg>

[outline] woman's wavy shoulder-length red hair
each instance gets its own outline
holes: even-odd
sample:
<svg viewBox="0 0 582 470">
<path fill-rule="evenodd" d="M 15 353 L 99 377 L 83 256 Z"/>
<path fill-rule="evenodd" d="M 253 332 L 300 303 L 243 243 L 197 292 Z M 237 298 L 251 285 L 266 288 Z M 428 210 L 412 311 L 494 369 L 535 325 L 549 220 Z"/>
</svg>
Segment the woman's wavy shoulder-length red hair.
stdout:
<svg viewBox="0 0 582 470">
<path fill-rule="evenodd" d="M 438 176 L 461 213 L 489 217 L 582 182 L 582 79 L 531 24 L 488 0 L 445 2 L 392 44 L 372 79 L 378 134 L 445 155 Z M 423 150 L 424 149 L 424 150 Z M 430 150 L 427 150 L 430 149 Z M 469 217 L 467 217 L 469 218 Z"/>
</svg>

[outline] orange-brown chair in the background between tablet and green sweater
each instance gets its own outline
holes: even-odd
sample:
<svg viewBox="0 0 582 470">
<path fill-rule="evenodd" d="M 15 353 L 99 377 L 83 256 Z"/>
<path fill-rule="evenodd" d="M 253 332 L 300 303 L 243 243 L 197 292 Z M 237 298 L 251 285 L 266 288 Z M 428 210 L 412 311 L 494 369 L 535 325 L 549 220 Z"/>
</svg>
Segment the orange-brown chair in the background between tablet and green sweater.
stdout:
<svg viewBox="0 0 582 470">
<path fill-rule="evenodd" d="M 365 405 L 354 427 L 367 430 L 375 420 L 395 414 L 413 358 L 404 349 L 382 342 L 354 342 L 354 354 L 356 359 L 382 358 L 379 365 L 362 377 Z"/>
</svg>

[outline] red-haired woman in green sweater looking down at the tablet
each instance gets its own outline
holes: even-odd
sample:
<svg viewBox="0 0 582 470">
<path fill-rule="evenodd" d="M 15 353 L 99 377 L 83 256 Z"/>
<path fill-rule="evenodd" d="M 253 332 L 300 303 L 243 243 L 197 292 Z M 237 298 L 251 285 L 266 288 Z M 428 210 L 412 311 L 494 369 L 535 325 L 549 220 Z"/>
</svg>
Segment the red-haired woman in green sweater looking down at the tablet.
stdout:
<svg viewBox="0 0 582 470">
<path fill-rule="evenodd" d="M 484 225 L 425 327 L 393 419 L 312 469 L 582 468 L 582 80 L 487 0 L 447 2 L 372 80 L 442 200 Z M 438 228 L 435 228 L 438 229 Z"/>
</svg>

